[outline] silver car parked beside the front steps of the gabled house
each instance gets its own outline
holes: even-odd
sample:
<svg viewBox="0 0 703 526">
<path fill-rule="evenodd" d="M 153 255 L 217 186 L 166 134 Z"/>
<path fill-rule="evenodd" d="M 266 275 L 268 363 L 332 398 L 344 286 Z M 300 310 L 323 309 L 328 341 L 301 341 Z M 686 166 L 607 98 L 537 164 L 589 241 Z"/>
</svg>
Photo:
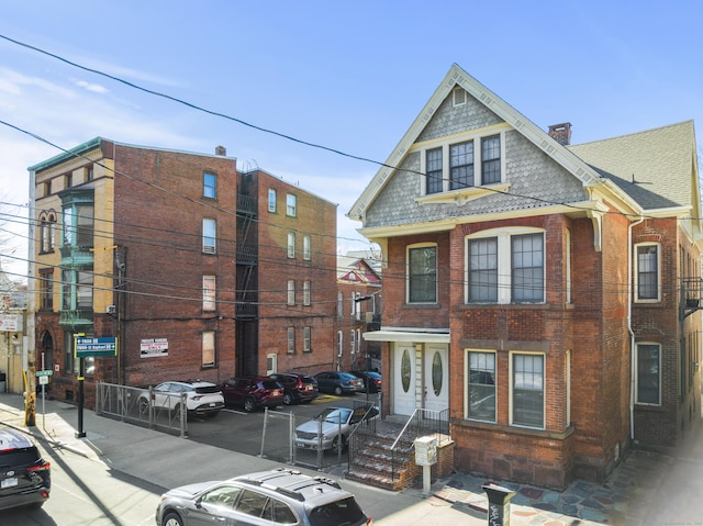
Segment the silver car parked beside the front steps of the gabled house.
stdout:
<svg viewBox="0 0 703 526">
<path fill-rule="evenodd" d="M 344 448 L 354 426 L 377 416 L 376 407 L 327 407 L 295 428 L 295 446 L 310 449 Z"/>
</svg>

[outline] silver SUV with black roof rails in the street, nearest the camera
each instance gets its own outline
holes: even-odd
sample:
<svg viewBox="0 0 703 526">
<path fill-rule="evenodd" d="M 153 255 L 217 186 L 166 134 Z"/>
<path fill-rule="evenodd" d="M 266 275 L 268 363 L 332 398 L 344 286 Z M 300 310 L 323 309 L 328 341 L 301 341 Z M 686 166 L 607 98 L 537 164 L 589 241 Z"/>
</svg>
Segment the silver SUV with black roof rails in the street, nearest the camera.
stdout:
<svg viewBox="0 0 703 526">
<path fill-rule="evenodd" d="M 201 524 L 372 526 L 373 521 L 334 480 L 280 468 L 161 495 L 157 526 Z"/>
</svg>

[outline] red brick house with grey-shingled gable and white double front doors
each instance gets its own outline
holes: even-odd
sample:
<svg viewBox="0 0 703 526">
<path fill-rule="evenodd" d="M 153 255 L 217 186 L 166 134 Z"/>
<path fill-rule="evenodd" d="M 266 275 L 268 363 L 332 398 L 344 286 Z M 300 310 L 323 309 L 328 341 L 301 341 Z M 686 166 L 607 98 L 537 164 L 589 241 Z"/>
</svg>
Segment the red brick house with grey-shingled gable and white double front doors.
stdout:
<svg viewBox="0 0 703 526">
<path fill-rule="evenodd" d="M 555 489 L 701 419 L 693 123 L 570 135 L 454 65 L 349 212 L 384 255 L 386 412 L 448 413 L 456 469 Z"/>
</svg>

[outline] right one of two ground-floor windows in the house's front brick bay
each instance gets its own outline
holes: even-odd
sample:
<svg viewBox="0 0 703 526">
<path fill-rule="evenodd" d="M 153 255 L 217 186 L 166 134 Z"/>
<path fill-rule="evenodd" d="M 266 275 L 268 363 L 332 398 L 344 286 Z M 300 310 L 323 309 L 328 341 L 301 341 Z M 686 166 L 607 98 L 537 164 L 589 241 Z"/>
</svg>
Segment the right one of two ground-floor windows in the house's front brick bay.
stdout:
<svg viewBox="0 0 703 526">
<path fill-rule="evenodd" d="M 545 357 L 511 352 L 511 425 L 545 427 Z"/>
</svg>

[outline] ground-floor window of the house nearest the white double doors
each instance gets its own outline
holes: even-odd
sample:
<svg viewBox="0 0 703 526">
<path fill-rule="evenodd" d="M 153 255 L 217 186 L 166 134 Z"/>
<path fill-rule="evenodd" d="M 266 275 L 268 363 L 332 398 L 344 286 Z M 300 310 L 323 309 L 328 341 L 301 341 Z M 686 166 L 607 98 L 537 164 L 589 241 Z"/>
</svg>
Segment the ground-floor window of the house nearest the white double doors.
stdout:
<svg viewBox="0 0 703 526">
<path fill-rule="evenodd" d="M 495 352 L 468 350 L 466 418 L 495 423 Z"/>
</svg>

